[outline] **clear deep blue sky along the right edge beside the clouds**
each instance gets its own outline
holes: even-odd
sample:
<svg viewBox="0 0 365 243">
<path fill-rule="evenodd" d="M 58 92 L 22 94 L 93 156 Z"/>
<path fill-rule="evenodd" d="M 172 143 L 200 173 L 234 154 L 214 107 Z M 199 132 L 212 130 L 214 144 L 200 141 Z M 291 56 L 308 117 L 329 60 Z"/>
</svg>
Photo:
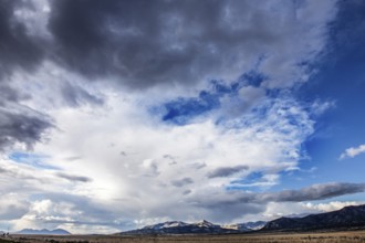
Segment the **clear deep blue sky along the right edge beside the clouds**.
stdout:
<svg viewBox="0 0 365 243">
<path fill-rule="evenodd" d="M 364 155 L 338 160 L 344 149 L 363 145 L 365 135 L 362 112 L 365 53 L 362 49 L 364 35 L 359 34 L 364 29 L 364 7 L 355 6 L 345 3 L 338 10 L 338 18 L 332 24 L 328 53 L 320 63 L 317 75 L 298 94 L 302 99 L 319 97 L 335 104 L 317 118 L 316 134 L 305 144 L 312 160 L 322 170 L 319 171 L 321 180 L 363 180 Z"/>
</svg>

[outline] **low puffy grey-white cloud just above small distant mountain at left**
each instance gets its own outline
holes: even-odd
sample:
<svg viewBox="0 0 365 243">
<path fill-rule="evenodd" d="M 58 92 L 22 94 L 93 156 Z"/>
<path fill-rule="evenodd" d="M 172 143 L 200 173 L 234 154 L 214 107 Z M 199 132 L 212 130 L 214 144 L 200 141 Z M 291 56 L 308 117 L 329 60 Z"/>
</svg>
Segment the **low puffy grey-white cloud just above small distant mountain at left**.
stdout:
<svg viewBox="0 0 365 243">
<path fill-rule="evenodd" d="M 103 205 L 92 203 L 88 199 L 56 193 L 33 201 L 27 213 L 12 222 L 13 231 L 62 228 L 72 233 L 117 232 L 124 224 L 123 221 L 117 222 L 117 218 Z"/>
</svg>

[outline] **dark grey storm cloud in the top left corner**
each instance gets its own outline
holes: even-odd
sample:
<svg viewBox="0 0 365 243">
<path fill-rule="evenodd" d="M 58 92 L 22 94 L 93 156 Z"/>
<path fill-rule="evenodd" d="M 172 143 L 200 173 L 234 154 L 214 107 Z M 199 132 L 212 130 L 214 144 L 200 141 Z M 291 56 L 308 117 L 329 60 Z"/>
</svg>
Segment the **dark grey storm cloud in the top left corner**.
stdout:
<svg viewBox="0 0 365 243">
<path fill-rule="evenodd" d="M 29 36 L 13 12 L 22 1 L 0 1 L 0 81 L 15 67 L 32 70 L 43 59 L 41 40 Z"/>
</svg>

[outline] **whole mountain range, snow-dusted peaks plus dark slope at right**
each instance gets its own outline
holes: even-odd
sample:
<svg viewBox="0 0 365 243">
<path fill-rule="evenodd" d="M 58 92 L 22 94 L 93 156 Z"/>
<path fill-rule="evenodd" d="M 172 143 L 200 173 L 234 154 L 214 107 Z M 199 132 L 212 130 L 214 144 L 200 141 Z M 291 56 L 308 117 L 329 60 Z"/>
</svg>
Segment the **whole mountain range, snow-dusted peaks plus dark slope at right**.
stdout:
<svg viewBox="0 0 365 243">
<path fill-rule="evenodd" d="M 310 214 L 302 218 L 280 218 L 273 221 L 218 225 L 208 221 L 185 223 L 168 221 L 147 225 L 121 234 L 228 234 L 244 232 L 290 232 L 290 231 L 336 231 L 365 229 L 365 204 L 345 207 L 327 213 Z"/>
</svg>

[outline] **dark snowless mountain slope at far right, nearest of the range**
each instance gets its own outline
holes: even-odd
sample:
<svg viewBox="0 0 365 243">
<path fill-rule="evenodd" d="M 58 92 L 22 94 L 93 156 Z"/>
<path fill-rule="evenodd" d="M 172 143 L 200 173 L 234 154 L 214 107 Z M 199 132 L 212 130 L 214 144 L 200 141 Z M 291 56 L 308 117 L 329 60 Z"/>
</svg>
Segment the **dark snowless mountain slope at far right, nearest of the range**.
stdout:
<svg viewBox="0 0 365 243">
<path fill-rule="evenodd" d="M 268 222 L 262 230 L 309 231 L 352 228 L 365 228 L 365 205 L 351 205 L 337 211 L 303 218 L 280 218 Z"/>
</svg>

